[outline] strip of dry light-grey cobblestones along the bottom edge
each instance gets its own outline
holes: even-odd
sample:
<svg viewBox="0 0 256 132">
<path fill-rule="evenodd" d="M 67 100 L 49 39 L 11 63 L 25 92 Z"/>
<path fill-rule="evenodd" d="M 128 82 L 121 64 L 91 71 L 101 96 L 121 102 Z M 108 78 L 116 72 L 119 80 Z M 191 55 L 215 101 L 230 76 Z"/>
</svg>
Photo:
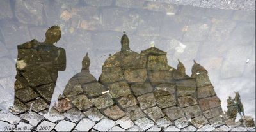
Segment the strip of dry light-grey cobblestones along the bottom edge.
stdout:
<svg viewBox="0 0 256 132">
<path fill-rule="evenodd" d="M 108 117 L 95 121 L 97 116 L 82 117 L 76 122 L 70 119 L 58 117 L 47 117 L 44 115 L 29 114 L 29 117 L 22 117 L 12 114 L 6 110 L 0 111 L 0 131 L 255 131 L 255 127 L 246 128 L 243 126 L 230 127 L 221 125 L 214 127 L 209 124 L 195 128 L 188 122 L 175 124 L 172 122 L 160 122 L 154 124 L 150 119 L 144 117 L 141 121 L 131 121 L 126 116 L 113 121 Z M 57 121 L 52 121 L 55 119 Z M 144 120 L 145 119 L 145 120 Z"/>
</svg>

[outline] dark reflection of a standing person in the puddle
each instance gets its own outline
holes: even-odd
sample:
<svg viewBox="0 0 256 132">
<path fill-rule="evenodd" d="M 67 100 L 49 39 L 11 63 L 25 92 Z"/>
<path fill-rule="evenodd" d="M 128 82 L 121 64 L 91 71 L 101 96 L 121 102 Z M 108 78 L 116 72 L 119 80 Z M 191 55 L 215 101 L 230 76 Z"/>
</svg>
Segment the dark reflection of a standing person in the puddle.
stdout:
<svg viewBox="0 0 256 132">
<path fill-rule="evenodd" d="M 60 27 L 52 26 L 46 31 L 45 37 L 42 43 L 31 40 L 18 45 L 15 101 L 12 108 L 16 112 L 26 111 L 31 105 L 30 102 L 42 103 L 48 108 L 58 71 L 64 71 L 66 68 L 65 50 L 54 46 L 54 43 L 61 38 Z M 35 109 L 35 111 L 44 110 L 44 108 Z"/>
</svg>

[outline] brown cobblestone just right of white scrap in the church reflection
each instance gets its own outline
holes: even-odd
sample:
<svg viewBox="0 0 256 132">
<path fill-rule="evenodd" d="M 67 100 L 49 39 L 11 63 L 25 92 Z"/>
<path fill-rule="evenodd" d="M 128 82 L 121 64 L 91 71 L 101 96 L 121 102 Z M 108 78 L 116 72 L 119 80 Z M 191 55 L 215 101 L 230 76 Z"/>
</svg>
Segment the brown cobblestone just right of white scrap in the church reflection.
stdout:
<svg viewBox="0 0 256 132">
<path fill-rule="evenodd" d="M 127 82 L 114 82 L 108 85 L 109 93 L 113 98 L 118 98 L 120 96 L 127 96 L 131 94 L 131 90 Z"/>
</svg>

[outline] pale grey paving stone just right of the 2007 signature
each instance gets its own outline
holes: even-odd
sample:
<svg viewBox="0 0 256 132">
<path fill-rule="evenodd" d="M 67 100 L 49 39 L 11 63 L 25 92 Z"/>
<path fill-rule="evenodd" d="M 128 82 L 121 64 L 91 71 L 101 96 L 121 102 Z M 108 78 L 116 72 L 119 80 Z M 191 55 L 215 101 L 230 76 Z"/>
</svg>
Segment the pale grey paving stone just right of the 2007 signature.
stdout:
<svg viewBox="0 0 256 132">
<path fill-rule="evenodd" d="M 55 130 L 56 131 L 71 131 L 74 126 L 76 126 L 75 123 L 73 122 L 69 122 L 69 121 L 66 121 L 66 120 L 62 120 L 60 122 L 58 122 L 58 124 L 55 126 Z"/>
</svg>

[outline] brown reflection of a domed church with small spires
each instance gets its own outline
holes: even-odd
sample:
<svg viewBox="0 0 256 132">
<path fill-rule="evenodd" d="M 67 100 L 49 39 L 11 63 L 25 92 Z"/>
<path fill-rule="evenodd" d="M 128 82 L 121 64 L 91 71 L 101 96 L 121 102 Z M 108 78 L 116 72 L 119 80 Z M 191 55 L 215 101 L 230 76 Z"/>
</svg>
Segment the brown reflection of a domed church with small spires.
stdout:
<svg viewBox="0 0 256 132">
<path fill-rule="evenodd" d="M 166 52 L 154 46 L 138 54 L 130 50 L 126 34 L 121 44 L 121 51 L 104 62 L 99 82 L 89 73 L 86 54 L 81 72 L 69 80 L 60 97 L 59 102 L 68 105 L 55 108 L 64 114 L 76 109 L 89 118 L 93 113 L 98 119 L 126 119 L 138 126 L 145 122 L 143 130 L 179 122 L 195 128 L 225 124 L 221 101 L 200 64 L 195 62 L 189 77 L 182 62 L 177 69 L 168 66 Z"/>
</svg>

